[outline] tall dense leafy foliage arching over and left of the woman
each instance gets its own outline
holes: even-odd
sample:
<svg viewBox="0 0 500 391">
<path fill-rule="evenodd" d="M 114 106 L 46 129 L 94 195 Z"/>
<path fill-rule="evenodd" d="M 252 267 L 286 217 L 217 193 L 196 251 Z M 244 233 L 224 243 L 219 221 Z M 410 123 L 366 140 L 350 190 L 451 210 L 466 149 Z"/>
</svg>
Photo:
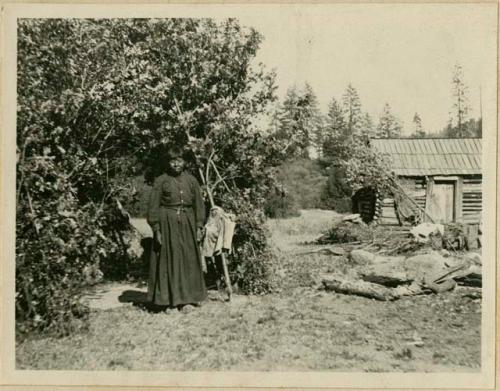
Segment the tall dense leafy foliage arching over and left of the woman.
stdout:
<svg viewBox="0 0 500 391">
<path fill-rule="evenodd" d="M 20 331 L 64 332 L 92 273 L 126 271 L 116 201 L 134 202 L 131 178 L 161 172 L 166 147 L 192 151 L 194 172 L 210 156 L 219 199 L 225 183 L 262 207 L 275 158 L 252 125 L 274 99 L 274 75 L 250 66 L 260 41 L 231 19 L 19 21 Z"/>
</svg>

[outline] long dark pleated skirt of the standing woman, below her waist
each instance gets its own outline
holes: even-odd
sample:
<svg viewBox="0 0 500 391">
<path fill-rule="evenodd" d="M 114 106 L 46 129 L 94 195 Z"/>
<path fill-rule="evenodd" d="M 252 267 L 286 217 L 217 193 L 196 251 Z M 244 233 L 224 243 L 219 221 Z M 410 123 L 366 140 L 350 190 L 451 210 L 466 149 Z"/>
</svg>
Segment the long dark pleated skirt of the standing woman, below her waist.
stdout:
<svg viewBox="0 0 500 391">
<path fill-rule="evenodd" d="M 160 208 L 161 246 L 151 250 L 148 300 L 175 307 L 201 302 L 207 290 L 191 208 Z"/>
</svg>

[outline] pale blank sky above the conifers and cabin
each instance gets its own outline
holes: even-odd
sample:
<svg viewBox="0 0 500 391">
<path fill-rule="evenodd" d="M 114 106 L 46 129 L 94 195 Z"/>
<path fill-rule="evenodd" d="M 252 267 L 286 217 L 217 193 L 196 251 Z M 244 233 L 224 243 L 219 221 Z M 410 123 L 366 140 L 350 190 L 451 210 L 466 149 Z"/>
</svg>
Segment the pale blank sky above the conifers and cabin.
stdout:
<svg viewBox="0 0 500 391">
<path fill-rule="evenodd" d="M 459 63 L 470 115 L 480 116 L 480 89 L 483 108 L 495 104 L 496 4 L 261 5 L 238 19 L 263 34 L 256 61 L 275 69 L 280 99 L 308 82 L 326 113 L 351 83 L 375 123 L 387 102 L 404 135 L 415 112 L 436 132 L 448 123 Z"/>
</svg>

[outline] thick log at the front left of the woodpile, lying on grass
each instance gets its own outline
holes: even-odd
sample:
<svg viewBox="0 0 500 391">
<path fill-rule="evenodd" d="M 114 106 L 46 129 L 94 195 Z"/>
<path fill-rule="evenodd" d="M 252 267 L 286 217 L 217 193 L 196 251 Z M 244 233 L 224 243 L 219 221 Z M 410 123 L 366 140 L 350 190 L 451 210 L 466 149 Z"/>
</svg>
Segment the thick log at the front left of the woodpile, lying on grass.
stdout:
<svg viewBox="0 0 500 391">
<path fill-rule="evenodd" d="M 337 293 L 363 296 L 381 301 L 389 301 L 398 298 L 392 289 L 366 281 L 353 281 L 340 276 L 332 276 L 328 279 L 323 279 L 322 282 L 325 290 Z"/>
</svg>

